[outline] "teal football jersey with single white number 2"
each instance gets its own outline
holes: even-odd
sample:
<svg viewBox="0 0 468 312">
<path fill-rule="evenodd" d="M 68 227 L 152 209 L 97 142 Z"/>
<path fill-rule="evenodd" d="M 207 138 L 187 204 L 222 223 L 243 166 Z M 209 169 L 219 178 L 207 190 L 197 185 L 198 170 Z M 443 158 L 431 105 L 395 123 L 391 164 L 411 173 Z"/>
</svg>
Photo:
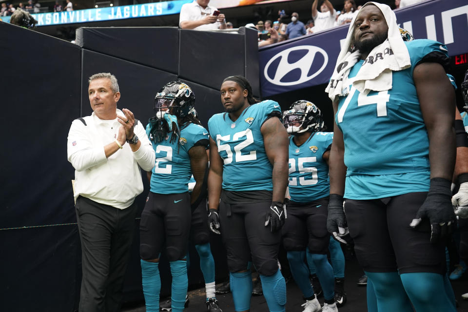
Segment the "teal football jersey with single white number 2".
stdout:
<svg viewBox="0 0 468 312">
<path fill-rule="evenodd" d="M 189 150 L 202 139 L 208 140 L 208 131 L 200 125 L 189 123 L 180 129 L 178 142 L 171 143 L 170 135 L 159 143 L 153 142 L 156 164 L 151 175 L 151 192 L 157 194 L 188 192 L 188 183 L 192 177 Z"/>
</svg>

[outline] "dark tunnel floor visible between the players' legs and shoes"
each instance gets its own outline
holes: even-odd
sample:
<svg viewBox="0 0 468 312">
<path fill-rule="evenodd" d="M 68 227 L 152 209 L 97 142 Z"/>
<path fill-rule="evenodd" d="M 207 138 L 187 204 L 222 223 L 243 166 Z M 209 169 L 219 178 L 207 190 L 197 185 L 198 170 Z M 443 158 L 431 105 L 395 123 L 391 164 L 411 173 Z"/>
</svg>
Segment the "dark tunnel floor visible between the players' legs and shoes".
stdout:
<svg viewBox="0 0 468 312">
<path fill-rule="evenodd" d="M 345 290 L 348 294 L 348 302 L 344 307 L 339 308 L 339 312 L 366 312 L 366 287 L 357 286 L 356 281 L 363 274 L 359 268 L 355 258 L 346 260 L 345 270 Z M 461 295 L 468 292 L 468 272 L 464 276 L 456 281 L 452 281 L 453 290 L 458 300 L 460 307 L 457 309 L 458 312 L 468 312 L 468 301 L 461 299 Z M 290 280 L 287 287 L 288 301 L 286 303 L 286 311 L 301 312 L 303 308 L 301 304 L 304 303 L 302 299 L 302 293 L 294 283 Z M 233 298 L 231 293 L 216 296 L 219 302 L 220 308 L 223 312 L 234 312 Z M 203 312 L 206 311 L 205 301 L 205 289 L 197 289 L 189 292 L 189 306 L 184 310 L 185 312 Z M 323 304 L 323 297 L 319 299 L 320 303 Z M 122 307 L 122 312 L 144 312 L 144 302 L 137 302 L 132 304 L 125 304 Z M 252 312 L 268 312 L 265 298 L 263 296 L 252 297 L 251 301 Z"/>
</svg>

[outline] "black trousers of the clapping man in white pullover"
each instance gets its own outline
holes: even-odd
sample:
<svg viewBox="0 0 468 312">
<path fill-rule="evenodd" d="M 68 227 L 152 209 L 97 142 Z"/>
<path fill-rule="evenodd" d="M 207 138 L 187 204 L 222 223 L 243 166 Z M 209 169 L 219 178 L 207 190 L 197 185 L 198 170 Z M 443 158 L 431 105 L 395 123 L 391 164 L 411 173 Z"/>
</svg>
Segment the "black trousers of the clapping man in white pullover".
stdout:
<svg viewBox="0 0 468 312">
<path fill-rule="evenodd" d="M 83 276 L 80 312 L 118 312 L 137 204 L 126 209 L 79 196 L 77 210 Z"/>
</svg>

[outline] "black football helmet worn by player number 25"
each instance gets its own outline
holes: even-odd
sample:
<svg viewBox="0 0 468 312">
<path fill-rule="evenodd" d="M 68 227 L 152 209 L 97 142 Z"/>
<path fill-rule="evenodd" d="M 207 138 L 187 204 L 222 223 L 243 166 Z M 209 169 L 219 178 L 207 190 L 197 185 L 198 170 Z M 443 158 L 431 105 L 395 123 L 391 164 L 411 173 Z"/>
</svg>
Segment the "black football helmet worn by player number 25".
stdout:
<svg viewBox="0 0 468 312">
<path fill-rule="evenodd" d="M 283 113 L 283 124 L 289 134 L 317 132 L 324 126 L 322 112 L 307 100 L 292 103 L 290 109 Z"/>
</svg>

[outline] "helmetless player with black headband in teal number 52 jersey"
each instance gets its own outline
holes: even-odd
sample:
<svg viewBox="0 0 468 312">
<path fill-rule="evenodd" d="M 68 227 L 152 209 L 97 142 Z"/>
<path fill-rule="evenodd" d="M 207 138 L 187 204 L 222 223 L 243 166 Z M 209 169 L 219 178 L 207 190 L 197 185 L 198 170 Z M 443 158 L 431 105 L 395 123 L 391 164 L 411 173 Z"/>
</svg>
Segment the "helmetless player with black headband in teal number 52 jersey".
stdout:
<svg viewBox="0 0 468 312">
<path fill-rule="evenodd" d="M 220 91 L 226 113 L 208 121 L 210 228 L 220 229 L 226 246 L 235 311 L 250 310 L 251 260 L 269 310 L 285 311 L 286 283 L 277 263 L 288 183 L 281 109 L 272 100 L 257 103 L 242 76 L 224 79 Z"/>
</svg>

